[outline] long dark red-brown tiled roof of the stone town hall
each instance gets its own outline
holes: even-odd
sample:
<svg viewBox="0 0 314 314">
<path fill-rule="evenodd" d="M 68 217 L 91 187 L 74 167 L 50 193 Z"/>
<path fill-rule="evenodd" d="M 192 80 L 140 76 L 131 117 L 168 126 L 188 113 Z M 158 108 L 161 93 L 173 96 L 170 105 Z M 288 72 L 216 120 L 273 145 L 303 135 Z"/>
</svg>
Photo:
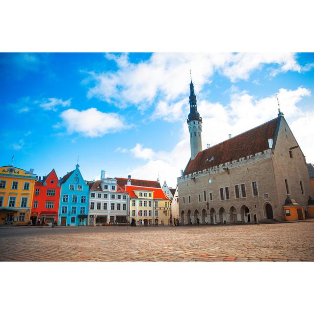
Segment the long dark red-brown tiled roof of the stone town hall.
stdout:
<svg viewBox="0 0 314 314">
<path fill-rule="evenodd" d="M 183 175 L 218 166 L 222 163 L 254 155 L 269 149 L 268 139 L 274 139 L 279 118 L 199 152 L 189 160 Z M 212 161 L 209 161 L 213 157 Z"/>
</svg>

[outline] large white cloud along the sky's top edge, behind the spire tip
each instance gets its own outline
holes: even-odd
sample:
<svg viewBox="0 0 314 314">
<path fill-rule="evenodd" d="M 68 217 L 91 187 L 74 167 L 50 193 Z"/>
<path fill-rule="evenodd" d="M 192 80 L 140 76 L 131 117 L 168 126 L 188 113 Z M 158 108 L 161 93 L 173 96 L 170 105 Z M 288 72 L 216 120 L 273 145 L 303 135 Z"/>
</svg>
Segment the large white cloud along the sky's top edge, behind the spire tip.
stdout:
<svg viewBox="0 0 314 314">
<path fill-rule="evenodd" d="M 88 90 L 88 97 L 96 97 L 118 107 L 136 105 L 141 110 L 152 105 L 157 98 L 169 103 L 183 97 L 187 92 L 189 69 L 192 69 L 192 76 L 195 74 L 196 93 L 204 84 L 210 83 L 215 71 L 231 81 L 248 79 L 264 64 L 273 64 L 272 76 L 279 72 L 302 71 L 294 53 L 153 53 L 148 60 L 138 64 L 131 63 L 127 54 L 107 53 L 105 57 L 116 62 L 118 70 L 89 72 L 94 86 Z M 90 82 L 89 79 L 87 81 Z M 162 102 L 159 103 L 161 107 Z"/>
</svg>

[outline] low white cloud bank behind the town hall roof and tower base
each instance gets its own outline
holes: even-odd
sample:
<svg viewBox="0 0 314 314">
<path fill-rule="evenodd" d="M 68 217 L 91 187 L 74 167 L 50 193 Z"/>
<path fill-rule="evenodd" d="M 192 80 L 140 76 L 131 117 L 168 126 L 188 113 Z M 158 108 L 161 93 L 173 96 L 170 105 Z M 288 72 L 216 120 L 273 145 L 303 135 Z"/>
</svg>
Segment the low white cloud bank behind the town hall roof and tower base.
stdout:
<svg viewBox="0 0 314 314">
<path fill-rule="evenodd" d="M 207 143 L 212 146 L 226 140 L 229 133 L 235 136 L 277 117 L 278 106 L 275 94 L 257 99 L 246 91 L 235 90 L 235 93 L 231 95 L 230 103 L 227 105 L 201 101 L 198 105 L 198 111 L 203 118 L 203 149 L 206 148 Z M 295 90 L 281 88 L 278 91 L 281 111 L 285 114 L 285 118 L 308 162 L 313 162 L 314 129 L 312 128 L 312 117 L 314 111 L 304 111 L 297 106 L 304 97 L 310 95 L 310 90 L 304 87 Z M 304 130 L 307 130 L 306 135 Z M 133 177 L 156 180 L 159 173 L 159 178 L 162 180 L 166 178 L 168 185 L 176 186 L 176 178 L 180 176 L 180 169 L 185 168 L 190 158 L 186 122 L 182 123 L 179 142 L 172 151 L 155 152 L 150 148 L 143 148 L 140 144 L 136 144 L 132 150 L 136 151 L 134 157 L 147 160 L 144 165 L 135 167 L 130 171 Z"/>
</svg>

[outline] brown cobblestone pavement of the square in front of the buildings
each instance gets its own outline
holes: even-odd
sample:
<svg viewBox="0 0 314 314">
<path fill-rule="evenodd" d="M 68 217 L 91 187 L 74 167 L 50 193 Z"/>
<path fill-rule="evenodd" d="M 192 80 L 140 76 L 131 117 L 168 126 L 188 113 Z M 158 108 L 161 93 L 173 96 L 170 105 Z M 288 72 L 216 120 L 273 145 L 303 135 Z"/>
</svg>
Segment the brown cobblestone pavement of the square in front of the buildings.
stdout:
<svg viewBox="0 0 314 314">
<path fill-rule="evenodd" d="M 314 261 L 314 221 L 1 228 L 0 261 Z"/>
</svg>

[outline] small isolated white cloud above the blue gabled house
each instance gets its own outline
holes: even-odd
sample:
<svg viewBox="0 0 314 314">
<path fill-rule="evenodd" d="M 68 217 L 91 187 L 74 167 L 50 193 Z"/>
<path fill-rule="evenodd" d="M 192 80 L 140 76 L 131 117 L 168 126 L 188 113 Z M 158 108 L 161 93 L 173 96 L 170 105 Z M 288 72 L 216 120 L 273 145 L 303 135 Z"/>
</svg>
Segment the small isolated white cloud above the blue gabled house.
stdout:
<svg viewBox="0 0 314 314">
<path fill-rule="evenodd" d="M 129 128 L 122 116 L 117 113 L 105 113 L 96 108 L 86 110 L 67 109 L 60 114 L 61 125 L 68 133 L 78 132 L 85 137 L 101 137 Z M 57 125 L 57 128 L 60 124 Z"/>
</svg>

